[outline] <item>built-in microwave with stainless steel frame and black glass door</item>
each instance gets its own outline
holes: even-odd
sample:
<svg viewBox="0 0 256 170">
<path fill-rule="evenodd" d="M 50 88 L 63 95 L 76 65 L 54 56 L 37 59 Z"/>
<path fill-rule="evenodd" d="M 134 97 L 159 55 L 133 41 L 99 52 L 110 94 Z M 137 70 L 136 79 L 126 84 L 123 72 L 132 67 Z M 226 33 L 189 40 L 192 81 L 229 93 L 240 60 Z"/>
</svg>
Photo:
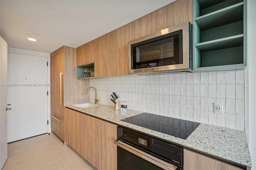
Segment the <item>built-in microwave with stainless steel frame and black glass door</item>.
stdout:
<svg viewBox="0 0 256 170">
<path fill-rule="evenodd" d="M 184 22 L 128 43 L 129 74 L 192 70 L 192 25 Z"/>
</svg>

